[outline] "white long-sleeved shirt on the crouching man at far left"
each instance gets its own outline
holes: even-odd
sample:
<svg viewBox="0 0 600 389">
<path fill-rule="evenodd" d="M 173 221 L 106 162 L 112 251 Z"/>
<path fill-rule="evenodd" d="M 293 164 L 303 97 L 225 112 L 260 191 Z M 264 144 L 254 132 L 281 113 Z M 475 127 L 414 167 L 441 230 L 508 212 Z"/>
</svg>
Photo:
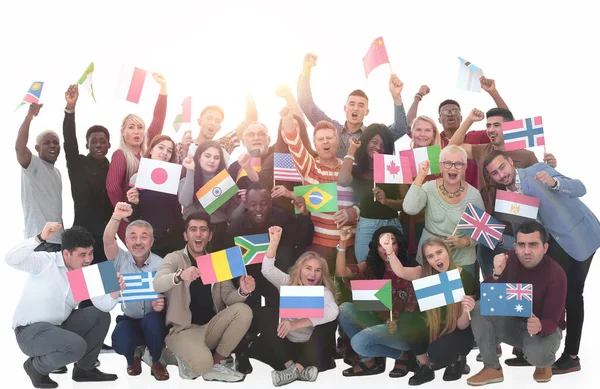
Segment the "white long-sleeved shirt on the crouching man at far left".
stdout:
<svg viewBox="0 0 600 389">
<path fill-rule="evenodd" d="M 62 252 L 34 252 L 37 246 L 35 238 L 29 238 L 6 254 L 9 266 L 29 273 L 13 316 L 13 329 L 39 322 L 61 325 L 77 306 Z M 117 304 L 117 300 L 109 294 L 91 300 L 104 312 L 109 312 Z"/>
</svg>

